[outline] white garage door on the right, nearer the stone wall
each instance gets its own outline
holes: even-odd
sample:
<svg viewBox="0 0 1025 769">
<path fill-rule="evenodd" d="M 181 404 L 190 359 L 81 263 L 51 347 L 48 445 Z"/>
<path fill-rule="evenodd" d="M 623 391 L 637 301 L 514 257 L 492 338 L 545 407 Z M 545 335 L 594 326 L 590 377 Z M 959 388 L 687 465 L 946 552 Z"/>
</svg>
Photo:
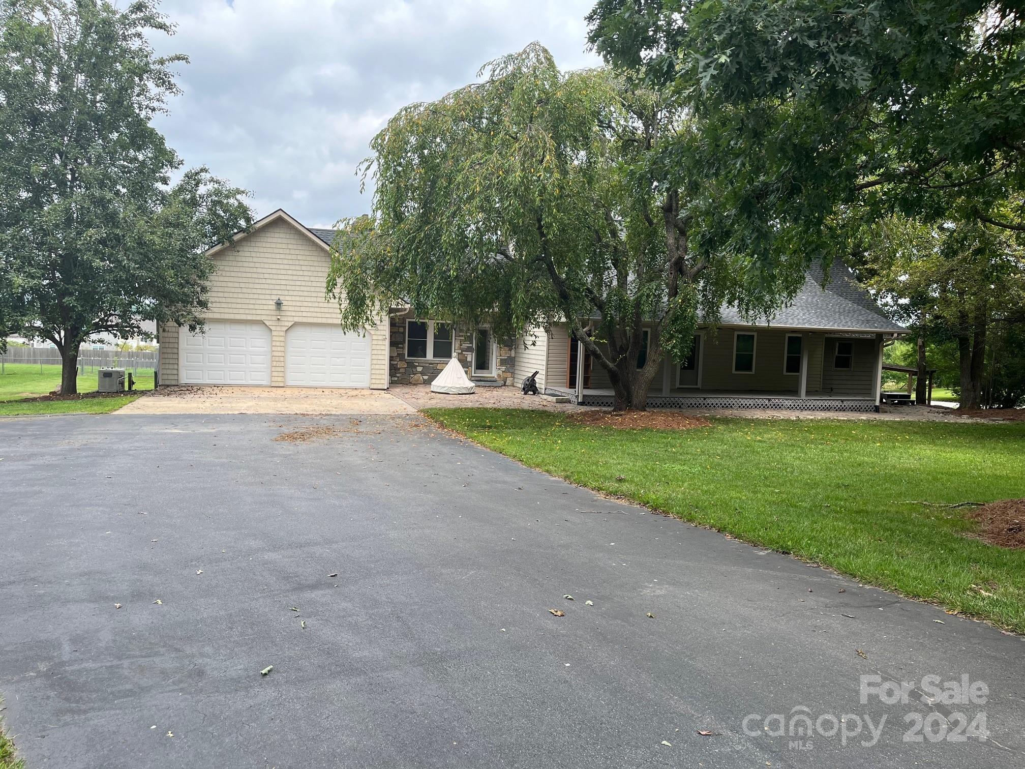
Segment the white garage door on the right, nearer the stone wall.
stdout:
<svg viewBox="0 0 1025 769">
<path fill-rule="evenodd" d="M 339 326 L 296 323 L 285 332 L 285 383 L 369 388 L 370 337 Z"/>
</svg>

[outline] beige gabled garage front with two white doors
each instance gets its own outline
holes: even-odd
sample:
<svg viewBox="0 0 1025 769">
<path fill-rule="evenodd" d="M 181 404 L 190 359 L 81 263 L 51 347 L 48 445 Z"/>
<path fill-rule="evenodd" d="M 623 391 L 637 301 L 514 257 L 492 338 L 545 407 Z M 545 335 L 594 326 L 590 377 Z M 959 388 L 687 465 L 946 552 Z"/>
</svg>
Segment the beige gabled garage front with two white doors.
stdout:
<svg viewBox="0 0 1025 769">
<path fill-rule="evenodd" d="M 387 312 L 343 331 L 325 296 L 334 236 L 278 210 L 207 251 L 203 332 L 161 325 L 160 385 L 386 390 Z"/>
</svg>

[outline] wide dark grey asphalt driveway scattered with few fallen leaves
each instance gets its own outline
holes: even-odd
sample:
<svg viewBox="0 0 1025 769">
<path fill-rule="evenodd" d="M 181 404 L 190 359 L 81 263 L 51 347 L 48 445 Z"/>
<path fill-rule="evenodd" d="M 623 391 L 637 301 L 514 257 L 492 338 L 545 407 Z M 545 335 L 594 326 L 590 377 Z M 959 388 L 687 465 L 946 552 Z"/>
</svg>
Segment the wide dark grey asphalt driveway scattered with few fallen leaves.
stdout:
<svg viewBox="0 0 1025 769">
<path fill-rule="evenodd" d="M 1025 763 L 1021 639 L 417 416 L 0 420 L 0 532 L 29 769 Z"/>
</svg>

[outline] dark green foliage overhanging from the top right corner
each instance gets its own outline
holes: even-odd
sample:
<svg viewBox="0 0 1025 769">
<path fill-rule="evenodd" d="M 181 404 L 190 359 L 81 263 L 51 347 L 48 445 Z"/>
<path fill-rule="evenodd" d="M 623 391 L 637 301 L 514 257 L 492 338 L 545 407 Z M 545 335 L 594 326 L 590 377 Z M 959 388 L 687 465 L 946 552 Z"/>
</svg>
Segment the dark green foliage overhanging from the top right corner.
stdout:
<svg viewBox="0 0 1025 769">
<path fill-rule="evenodd" d="M 588 21 L 700 117 L 743 252 L 845 253 L 852 217 L 885 214 L 1025 229 L 1018 3 L 599 0 Z"/>
</svg>

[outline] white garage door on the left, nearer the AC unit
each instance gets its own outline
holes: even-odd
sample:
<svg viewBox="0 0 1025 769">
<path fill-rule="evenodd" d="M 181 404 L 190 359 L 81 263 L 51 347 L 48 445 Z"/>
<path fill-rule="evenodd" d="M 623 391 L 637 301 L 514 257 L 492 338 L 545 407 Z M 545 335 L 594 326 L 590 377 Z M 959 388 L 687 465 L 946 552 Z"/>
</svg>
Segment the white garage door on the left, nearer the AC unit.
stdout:
<svg viewBox="0 0 1025 769">
<path fill-rule="evenodd" d="M 271 329 L 258 321 L 207 321 L 206 333 L 182 327 L 182 385 L 270 385 Z"/>
</svg>

